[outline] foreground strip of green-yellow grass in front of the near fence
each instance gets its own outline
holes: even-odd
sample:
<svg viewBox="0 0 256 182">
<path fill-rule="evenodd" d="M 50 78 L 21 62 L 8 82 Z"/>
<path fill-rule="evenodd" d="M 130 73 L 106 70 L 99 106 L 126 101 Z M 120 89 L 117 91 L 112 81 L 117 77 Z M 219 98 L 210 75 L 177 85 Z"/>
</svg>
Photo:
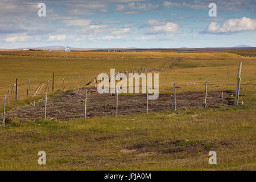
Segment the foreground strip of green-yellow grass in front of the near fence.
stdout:
<svg viewBox="0 0 256 182">
<path fill-rule="evenodd" d="M 225 106 L 74 121 L 9 121 L 0 169 L 255 169 L 255 106 Z M 237 117 L 242 115 L 242 117 Z M 46 151 L 47 165 L 37 163 Z M 217 165 L 208 152 L 217 152 Z"/>
</svg>

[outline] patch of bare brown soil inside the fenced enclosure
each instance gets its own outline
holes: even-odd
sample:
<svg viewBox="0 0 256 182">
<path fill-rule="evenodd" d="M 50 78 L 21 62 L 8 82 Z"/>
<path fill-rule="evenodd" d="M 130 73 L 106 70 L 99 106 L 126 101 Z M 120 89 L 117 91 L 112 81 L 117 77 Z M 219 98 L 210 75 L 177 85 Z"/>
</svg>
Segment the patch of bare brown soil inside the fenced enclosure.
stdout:
<svg viewBox="0 0 256 182">
<path fill-rule="evenodd" d="M 96 90 L 96 89 L 91 89 Z M 226 99 L 229 92 L 224 91 L 223 101 L 221 92 L 208 92 L 207 106 L 228 105 Z M 47 118 L 69 120 L 82 118 L 84 114 L 85 90 L 75 90 L 72 92 L 59 92 L 55 96 L 47 98 Z M 115 98 L 110 94 L 91 94 L 88 92 L 86 117 L 99 117 L 102 115 L 115 114 Z M 174 96 L 171 94 L 160 94 L 157 100 L 148 101 L 149 111 L 160 111 L 174 109 Z M 187 92 L 176 95 L 177 109 L 188 109 L 190 107 L 203 107 L 204 92 Z M 118 114 L 145 113 L 146 94 L 119 94 L 118 95 Z M 2 117 L 2 113 L 0 114 Z M 31 119 L 44 118 L 44 98 L 35 103 L 35 107 L 30 104 L 17 107 L 6 113 L 7 118 Z"/>
</svg>

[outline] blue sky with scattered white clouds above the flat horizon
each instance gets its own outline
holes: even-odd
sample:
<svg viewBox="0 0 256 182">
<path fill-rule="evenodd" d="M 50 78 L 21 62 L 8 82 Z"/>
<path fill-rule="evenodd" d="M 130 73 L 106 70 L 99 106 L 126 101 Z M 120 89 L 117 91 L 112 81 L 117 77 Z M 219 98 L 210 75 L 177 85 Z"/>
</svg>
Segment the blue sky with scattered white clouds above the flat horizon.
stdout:
<svg viewBox="0 0 256 182">
<path fill-rule="evenodd" d="M 255 0 L 0 0 L 0 17 L 0 48 L 256 47 Z"/>
</svg>

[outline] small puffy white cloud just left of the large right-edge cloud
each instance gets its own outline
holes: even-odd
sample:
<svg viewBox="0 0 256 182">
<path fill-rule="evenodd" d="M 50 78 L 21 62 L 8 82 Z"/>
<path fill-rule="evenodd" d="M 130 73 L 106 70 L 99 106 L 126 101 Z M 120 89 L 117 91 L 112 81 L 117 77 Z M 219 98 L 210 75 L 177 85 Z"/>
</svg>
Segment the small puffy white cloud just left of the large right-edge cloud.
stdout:
<svg viewBox="0 0 256 182">
<path fill-rule="evenodd" d="M 177 30 L 179 30 L 178 24 L 168 22 L 163 25 L 145 28 L 144 34 L 176 33 Z"/>
</svg>

